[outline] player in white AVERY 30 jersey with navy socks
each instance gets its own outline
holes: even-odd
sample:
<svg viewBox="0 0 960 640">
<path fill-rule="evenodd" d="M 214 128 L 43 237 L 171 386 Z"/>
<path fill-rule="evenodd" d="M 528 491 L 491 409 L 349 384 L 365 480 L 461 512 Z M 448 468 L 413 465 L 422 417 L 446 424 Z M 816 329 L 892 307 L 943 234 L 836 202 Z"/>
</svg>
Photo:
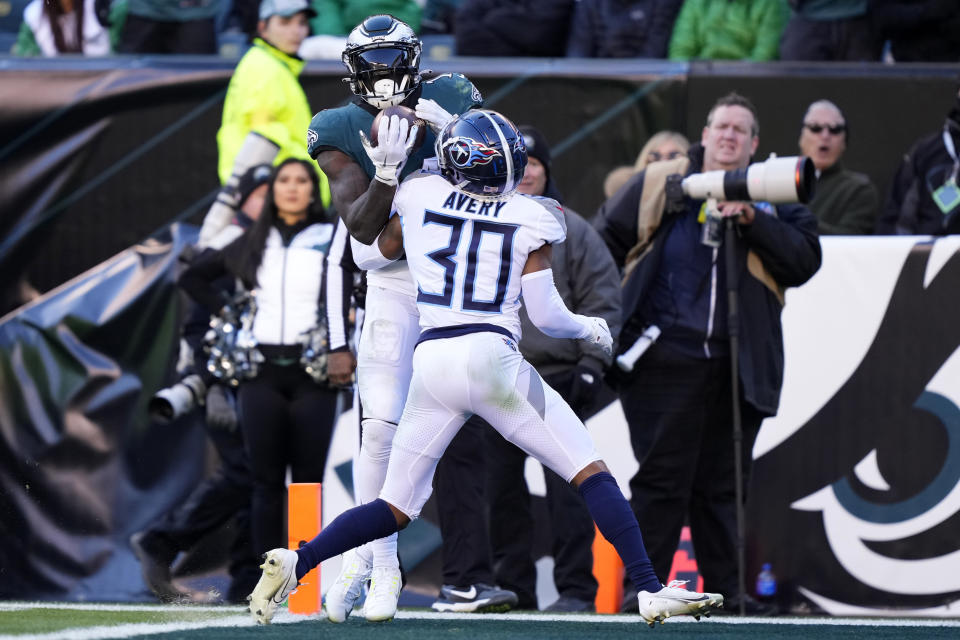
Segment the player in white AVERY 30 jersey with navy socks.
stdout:
<svg viewBox="0 0 960 640">
<path fill-rule="evenodd" d="M 405 121 L 393 117 L 385 128 L 368 147 L 377 165 L 409 145 Z M 404 181 L 398 215 L 376 243 L 385 261 L 405 253 L 422 329 L 380 497 L 344 512 L 297 551 L 269 551 L 251 595 L 254 619 L 269 622 L 324 559 L 416 518 L 440 456 L 472 414 L 577 487 L 636 585 L 644 620 L 708 614 L 723 596 L 660 584 L 636 518 L 583 423 L 517 349 L 521 293 L 547 335 L 613 346 L 603 319 L 571 313 L 553 284 L 550 245 L 566 229 L 555 201 L 514 193 L 527 161 L 523 136 L 502 115 L 474 110 L 444 127 L 436 152 L 439 173 Z"/>
</svg>

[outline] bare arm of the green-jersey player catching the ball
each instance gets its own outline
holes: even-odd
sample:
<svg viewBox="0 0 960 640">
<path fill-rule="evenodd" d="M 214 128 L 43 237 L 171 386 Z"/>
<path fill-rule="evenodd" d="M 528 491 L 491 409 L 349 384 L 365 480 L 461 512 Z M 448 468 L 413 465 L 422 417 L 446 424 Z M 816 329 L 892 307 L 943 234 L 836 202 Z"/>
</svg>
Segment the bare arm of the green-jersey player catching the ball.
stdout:
<svg viewBox="0 0 960 640">
<path fill-rule="evenodd" d="M 387 223 L 396 187 L 370 180 L 363 167 L 342 151 L 321 151 L 317 164 L 330 181 L 333 205 L 347 231 L 371 244 Z"/>
</svg>

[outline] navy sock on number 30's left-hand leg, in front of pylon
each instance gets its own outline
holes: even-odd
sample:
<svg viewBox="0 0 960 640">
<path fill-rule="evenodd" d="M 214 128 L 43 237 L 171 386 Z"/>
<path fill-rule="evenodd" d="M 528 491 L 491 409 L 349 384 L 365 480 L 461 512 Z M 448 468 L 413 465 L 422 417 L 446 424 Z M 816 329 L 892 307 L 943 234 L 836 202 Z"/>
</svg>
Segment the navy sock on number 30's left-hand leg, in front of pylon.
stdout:
<svg viewBox="0 0 960 640">
<path fill-rule="evenodd" d="M 297 580 L 333 556 L 397 531 L 397 519 L 383 500 L 344 511 L 317 536 L 297 549 Z"/>
</svg>

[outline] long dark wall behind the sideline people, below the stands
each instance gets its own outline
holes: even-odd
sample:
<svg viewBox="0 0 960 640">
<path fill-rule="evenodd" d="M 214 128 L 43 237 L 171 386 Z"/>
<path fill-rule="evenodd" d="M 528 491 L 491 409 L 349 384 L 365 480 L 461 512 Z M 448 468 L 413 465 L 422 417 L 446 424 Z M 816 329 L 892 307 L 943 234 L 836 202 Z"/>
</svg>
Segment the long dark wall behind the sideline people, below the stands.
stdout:
<svg viewBox="0 0 960 640">
<path fill-rule="evenodd" d="M 175 218 L 199 221 L 217 187 L 216 131 L 234 63 L 218 58 L 0 59 L 0 271 L 47 290 Z M 909 144 L 935 132 L 956 93 L 948 66 L 677 64 L 450 59 L 487 106 L 539 127 L 565 202 L 591 217 L 602 183 L 663 128 L 699 137 L 713 100 L 755 100 L 760 155 L 796 153 L 810 101 L 829 97 L 853 126 L 848 166 L 885 193 Z M 314 110 L 348 97 L 339 61 L 311 62 Z"/>
</svg>

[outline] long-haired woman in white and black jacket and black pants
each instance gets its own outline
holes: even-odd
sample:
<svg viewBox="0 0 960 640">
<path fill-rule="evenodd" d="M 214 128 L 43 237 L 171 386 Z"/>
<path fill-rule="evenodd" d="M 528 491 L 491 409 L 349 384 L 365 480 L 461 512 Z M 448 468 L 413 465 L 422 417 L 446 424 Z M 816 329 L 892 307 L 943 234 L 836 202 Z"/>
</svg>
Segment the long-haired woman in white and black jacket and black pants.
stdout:
<svg viewBox="0 0 960 640">
<path fill-rule="evenodd" d="M 202 254 L 180 277 L 180 286 L 209 309 L 225 302 L 212 284 L 225 274 L 256 300 L 252 333 L 265 361 L 239 390 L 254 475 L 255 550 L 286 546 L 287 467 L 293 482 L 323 480 L 340 392 L 307 374 L 300 337 L 325 312 L 324 258 L 333 227 L 320 202 L 317 172 L 307 161 L 289 158 L 274 171 L 254 225 L 222 250 Z"/>
</svg>

